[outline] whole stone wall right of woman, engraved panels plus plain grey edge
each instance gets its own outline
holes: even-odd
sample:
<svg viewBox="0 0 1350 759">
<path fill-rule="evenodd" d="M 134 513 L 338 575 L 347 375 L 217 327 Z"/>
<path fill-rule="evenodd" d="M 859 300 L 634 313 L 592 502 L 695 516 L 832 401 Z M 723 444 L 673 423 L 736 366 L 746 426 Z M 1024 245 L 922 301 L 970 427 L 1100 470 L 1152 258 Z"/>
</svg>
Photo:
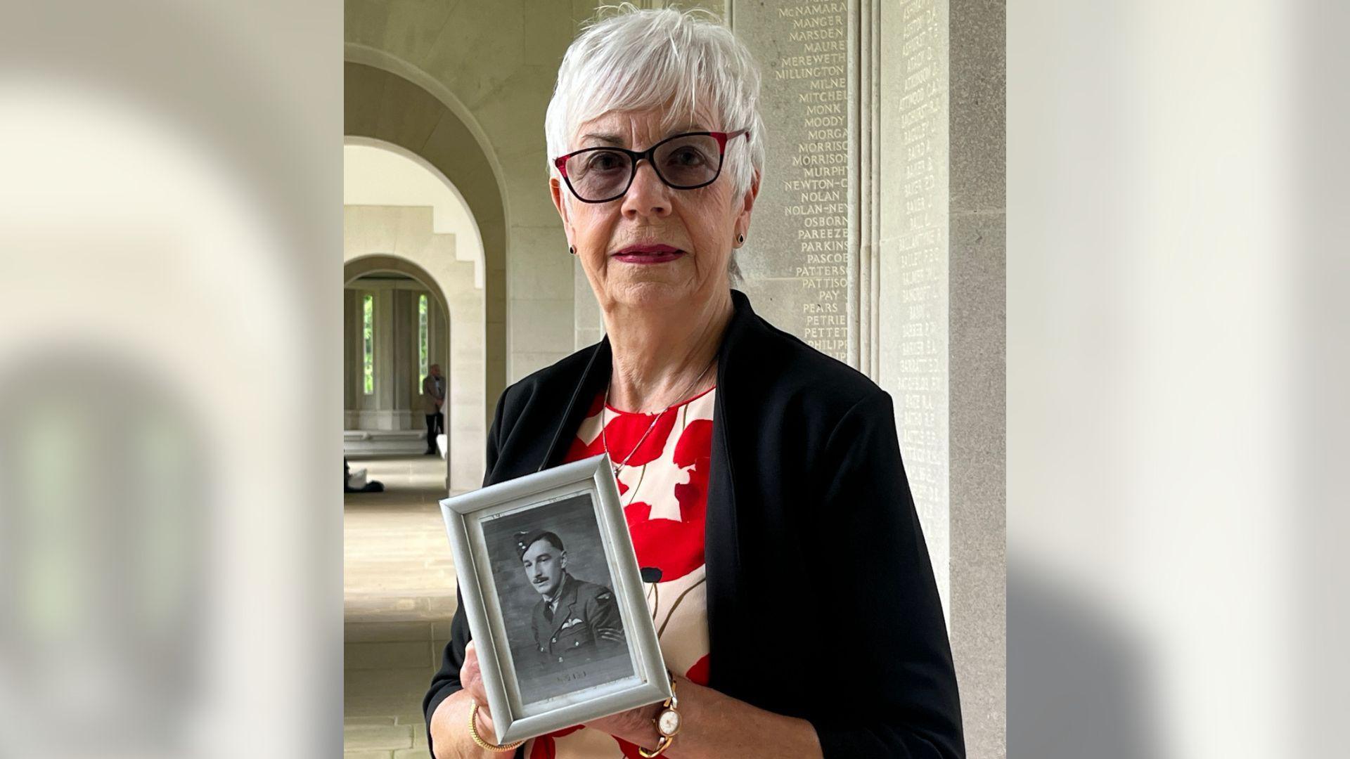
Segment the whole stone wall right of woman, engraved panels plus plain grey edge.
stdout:
<svg viewBox="0 0 1350 759">
<path fill-rule="evenodd" d="M 1003 5 L 729 0 L 764 73 L 744 289 L 895 401 L 971 756 L 1006 755 Z"/>
</svg>

